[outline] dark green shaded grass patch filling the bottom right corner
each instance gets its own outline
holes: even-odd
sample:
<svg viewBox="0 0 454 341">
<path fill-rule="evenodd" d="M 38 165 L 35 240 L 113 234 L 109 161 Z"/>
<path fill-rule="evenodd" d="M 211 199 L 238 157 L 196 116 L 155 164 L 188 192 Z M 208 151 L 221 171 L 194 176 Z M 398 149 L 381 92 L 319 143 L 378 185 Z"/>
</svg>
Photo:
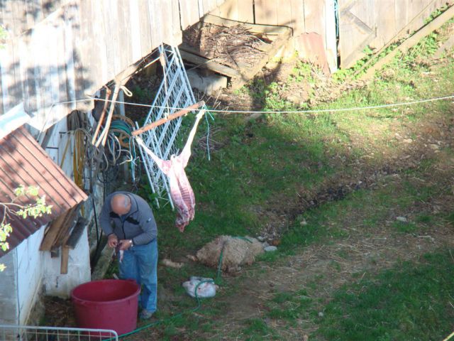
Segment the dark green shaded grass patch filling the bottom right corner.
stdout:
<svg viewBox="0 0 454 341">
<path fill-rule="evenodd" d="M 453 258 L 443 252 L 345 286 L 326 305 L 319 335 L 331 341 L 443 340 L 454 328 L 453 276 Z"/>
</svg>

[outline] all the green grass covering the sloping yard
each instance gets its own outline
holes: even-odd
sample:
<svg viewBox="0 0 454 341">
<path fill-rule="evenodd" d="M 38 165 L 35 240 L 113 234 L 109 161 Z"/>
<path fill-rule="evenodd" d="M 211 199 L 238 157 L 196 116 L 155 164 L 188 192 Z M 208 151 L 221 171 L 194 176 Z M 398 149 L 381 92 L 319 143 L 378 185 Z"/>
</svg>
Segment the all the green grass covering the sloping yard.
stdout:
<svg viewBox="0 0 454 341">
<path fill-rule="evenodd" d="M 428 37 L 415 50 L 399 55 L 370 85 L 340 94 L 336 101 L 317 108 L 370 106 L 453 94 L 454 60 L 429 66 L 437 39 Z M 425 72 L 430 73 L 427 76 Z M 255 80 L 238 90 L 238 95 L 254 97 L 264 112 L 299 109 L 282 97 L 282 90 L 312 82 L 312 76 L 308 65 L 297 63 L 285 84 Z M 178 270 L 160 266 L 159 286 L 165 295 L 159 298 L 157 317 L 166 322 L 144 335 L 159 340 L 219 340 L 219 335 L 240 340 L 294 340 L 289 332 L 319 329 L 310 339 L 441 340 L 453 327 L 449 321 L 452 308 L 446 304 L 452 296 L 449 282 L 453 266 L 443 251 L 419 261 L 399 261 L 389 270 L 381 270 L 377 256 L 371 254 L 368 266 L 375 271 L 364 276 L 364 271 L 358 270 L 350 283 L 333 285 L 333 291 L 330 274 L 344 268 L 331 260 L 326 263 L 327 271 L 321 269 L 300 288 L 268 288 L 269 298 L 257 298 L 262 304 L 258 315 L 230 321 L 228 311 L 229 302 L 238 302 L 245 295 L 243 281 L 259 281 L 269 274 L 262 264 L 286 264 L 304 248 L 346 243 L 355 234 L 372 237 L 387 232 L 390 239 L 404 238 L 425 234 L 434 226 L 454 224 L 454 214 L 430 209 L 433 200 L 450 193 L 449 183 L 434 174 L 453 158 L 453 152 L 448 147 L 417 162 L 411 154 L 419 139 L 435 136 L 431 132 L 423 135 L 424 127 L 449 117 L 449 112 L 452 104 L 444 101 L 355 112 L 265 114 L 249 123 L 235 115 L 216 117 L 211 126 L 218 134 L 213 137 L 222 148 L 211 153 L 211 161 L 203 150 L 195 148 L 187 167 L 196 193 L 194 222 L 181 234 L 173 226 L 175 212 L 169 205 L 155 210 L 160 257 L 179 261 L 220 234 L 257 236 L 267 224 L 277 224 L 278 218 L 287 219 L 279 251 L 260 256 L 258 264 L 236 278 L 223 278 L 216 298 L 203 301 L 196 313 L 172 320 L 167 319 L 196 305 L 185 295 L 182 281 L 189 276 L 214 277 L 216 269 L 193 263 Z M 187 119 L 184 124 L 188 127 L 192 121 Z M 202 124 L 198 137 L 205 133 Z M 412 144 L 402 144 L 402 139 L 409 138 Z M 391 166 L 394 171 L 380 173 Z M 320 200 L 310 210 L 301 208 L 301 197 L 316 199 L 326 190 L 337 190 L 336 183 L 352 185 L 352 181 L 365 181 L 366 175 L 367 186 L 353 186 L 338 200 Z M 153 201 L 148 193 L 145 187 L 139 194 Z M 409 217 L 409 222 L 397 221 L 398 216 Z M 345 250 L 336 252 L 344 261 L 350 260 Z M 321 288 L 330 293 L 329 299 L 321 295 Z M 236 327 L 231 327 L 235 323 Z"/>
</svg>

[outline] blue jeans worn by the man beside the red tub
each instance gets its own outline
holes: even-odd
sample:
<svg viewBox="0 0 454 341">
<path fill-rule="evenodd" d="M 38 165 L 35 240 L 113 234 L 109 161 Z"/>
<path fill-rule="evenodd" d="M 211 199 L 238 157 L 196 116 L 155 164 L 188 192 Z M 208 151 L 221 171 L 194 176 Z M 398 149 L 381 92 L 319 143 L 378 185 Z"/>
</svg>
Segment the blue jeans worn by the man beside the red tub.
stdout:
<svg viewBox="0 0 454 341">
<path fill-rule="evenodd" d="M 120 278 L 133 279 L 139 286 L 139 305 L 145 310 L 156 311 L 157 298 L 157 240 L 145 245 L 134 245 L 123 254 Z"/>
</svg>

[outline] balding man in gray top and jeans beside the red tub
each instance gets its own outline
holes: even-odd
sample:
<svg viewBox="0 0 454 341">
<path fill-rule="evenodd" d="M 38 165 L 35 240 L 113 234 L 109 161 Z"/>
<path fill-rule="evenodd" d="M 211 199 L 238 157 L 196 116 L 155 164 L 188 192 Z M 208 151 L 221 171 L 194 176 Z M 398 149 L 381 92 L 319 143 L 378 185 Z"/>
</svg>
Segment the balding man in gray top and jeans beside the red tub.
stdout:
<svg viewBox="0 0 454 341">
<path fill-rule="evenodd" d="M 120 277 L 143 286 L 140 319 L 151 318 L 157 297 L 157 227 L 150 205 L 133 193 L 115 192 L 106 197 L 100 221 L 109 247 L 124 252 Z"/>
</svg>

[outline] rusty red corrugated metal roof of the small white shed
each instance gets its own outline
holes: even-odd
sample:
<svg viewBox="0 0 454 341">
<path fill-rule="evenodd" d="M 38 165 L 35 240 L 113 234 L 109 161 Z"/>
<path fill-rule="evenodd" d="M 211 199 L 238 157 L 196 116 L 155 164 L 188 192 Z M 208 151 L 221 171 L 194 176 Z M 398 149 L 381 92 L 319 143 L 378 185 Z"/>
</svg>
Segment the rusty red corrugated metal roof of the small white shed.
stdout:
<svg viewBox="0 0 454 341">
<path fill-rule="evenodd" d="M 20 185 L 36 185 L 39 195 L 45 195 L 52 205 L 52 213 L 38 219 L 22 219 L 11 215 L 13 233 L 7 239 L 9 250 L 37 231 L 43 224 L 58 217 L 66 210 L 87 199 L 87 195 L 68 178 L 23 127 L 0 140 L 0 202 L 11 202 L 14 189 Z M 15 202 L 26 204 L 30 198 L 21 197 Z M 0 212 L 0 219 L 4 212 Z M 0 250 L 0 256 L 2 255 Z"/>
</svg>

